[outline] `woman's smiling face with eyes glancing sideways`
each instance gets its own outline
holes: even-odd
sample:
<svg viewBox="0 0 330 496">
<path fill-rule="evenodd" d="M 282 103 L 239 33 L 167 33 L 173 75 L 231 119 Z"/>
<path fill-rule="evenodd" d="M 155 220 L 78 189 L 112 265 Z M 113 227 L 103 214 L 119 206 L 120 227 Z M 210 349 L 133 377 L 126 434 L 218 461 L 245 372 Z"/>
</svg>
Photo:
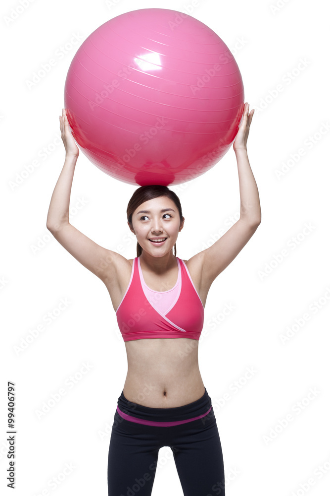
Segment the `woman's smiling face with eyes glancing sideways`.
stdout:
<svg viewBox="0 0 330 496">
<path fill-rule="evenodd" d="M 185 219 L 180 222 L 174 201 L 167 196 L 158 196 L 141 203 L 133 212 L 133 229 L 130 229 L 143 250 L 153 256 L 163 256 L 174 247 L 184 222 Z M 164 242 L 150 241 L 164 238 Z"/>
</svg>

